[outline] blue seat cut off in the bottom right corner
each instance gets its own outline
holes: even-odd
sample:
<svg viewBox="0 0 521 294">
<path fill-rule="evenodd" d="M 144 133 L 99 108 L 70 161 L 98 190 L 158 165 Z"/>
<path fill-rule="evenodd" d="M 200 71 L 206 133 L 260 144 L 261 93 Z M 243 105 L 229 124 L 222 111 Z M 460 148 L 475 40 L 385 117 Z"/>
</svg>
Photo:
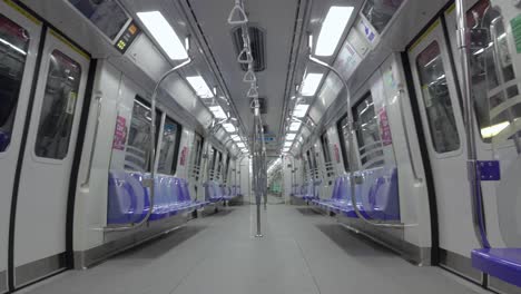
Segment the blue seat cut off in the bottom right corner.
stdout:
<svg viewBox="0 0 521 294">
<path fill-rule="evenodd" d="M 521 248 L 474 249 L 471 256 L 473 267 L 521 287 Z"/>
</svg>

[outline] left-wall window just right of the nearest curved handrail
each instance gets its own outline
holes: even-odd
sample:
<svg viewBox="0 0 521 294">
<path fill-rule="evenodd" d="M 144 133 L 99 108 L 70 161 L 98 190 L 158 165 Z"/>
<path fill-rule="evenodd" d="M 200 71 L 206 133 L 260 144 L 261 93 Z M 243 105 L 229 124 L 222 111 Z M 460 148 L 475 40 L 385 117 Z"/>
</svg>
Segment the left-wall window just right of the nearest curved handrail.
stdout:
<svg viewBox="0 0 521 294">
<path fill-rule="evenodd" d="M 166 117 L 161 136 L 163 140 L 159 149 L 157 171 L 166 175 L 175 175 L 177 156 L 179 153 L 180 126 L 169 117 Z"/>
</svg>

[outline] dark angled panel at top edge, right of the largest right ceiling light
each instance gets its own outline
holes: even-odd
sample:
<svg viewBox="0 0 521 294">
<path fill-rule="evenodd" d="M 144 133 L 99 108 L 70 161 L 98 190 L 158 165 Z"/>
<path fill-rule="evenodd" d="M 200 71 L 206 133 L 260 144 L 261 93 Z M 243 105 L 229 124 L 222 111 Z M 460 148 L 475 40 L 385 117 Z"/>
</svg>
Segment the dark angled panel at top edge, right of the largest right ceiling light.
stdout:
<svg viewBox="0 0 521 294">
<path fill-rule="evenodd" d="M 367 0 L 362 9 L 362 14 L 379 33 L 382 33 L 402 2 L 403 0 Z"/>
</svg>

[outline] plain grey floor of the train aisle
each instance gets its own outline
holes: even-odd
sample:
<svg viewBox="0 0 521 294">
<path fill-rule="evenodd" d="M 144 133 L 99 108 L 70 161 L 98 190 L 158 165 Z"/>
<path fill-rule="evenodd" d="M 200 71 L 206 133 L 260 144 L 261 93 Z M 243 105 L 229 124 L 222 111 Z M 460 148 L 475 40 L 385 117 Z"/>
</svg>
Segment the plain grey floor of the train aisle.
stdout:
<svg viewBox="0 0 521 294">
<path fill-rule="evenodd" d="M 273 203 L 273 202 L 271 202 Z M 438 267 L 416 267 L 304 207 L 229 208 L 116 256 L 22 291 L 35 294 L 484 293 Z"/>
</svg>

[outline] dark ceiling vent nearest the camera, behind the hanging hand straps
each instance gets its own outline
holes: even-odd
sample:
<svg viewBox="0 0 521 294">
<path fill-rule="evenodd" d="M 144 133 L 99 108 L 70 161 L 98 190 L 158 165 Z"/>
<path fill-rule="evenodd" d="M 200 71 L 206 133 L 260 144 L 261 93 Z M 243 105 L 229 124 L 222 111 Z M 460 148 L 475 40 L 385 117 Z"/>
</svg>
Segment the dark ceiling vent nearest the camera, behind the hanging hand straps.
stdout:
<svg viewBox="0 0 521 294">
<path fill-rule="evenodd" d="M 254 58 L 254 71 L 263 71 L 266 69 L 266 35 L 258 27 L 249 27 L 249 39 L 252 45 L 252 56 Z M 237 27 L 232 32 L 234 38 L 235 52 L 238 56 L 243 51 L 243 28 Z M 248 65 L 240 65 L 243 71 L 248 70 Z"/>
</svg>

